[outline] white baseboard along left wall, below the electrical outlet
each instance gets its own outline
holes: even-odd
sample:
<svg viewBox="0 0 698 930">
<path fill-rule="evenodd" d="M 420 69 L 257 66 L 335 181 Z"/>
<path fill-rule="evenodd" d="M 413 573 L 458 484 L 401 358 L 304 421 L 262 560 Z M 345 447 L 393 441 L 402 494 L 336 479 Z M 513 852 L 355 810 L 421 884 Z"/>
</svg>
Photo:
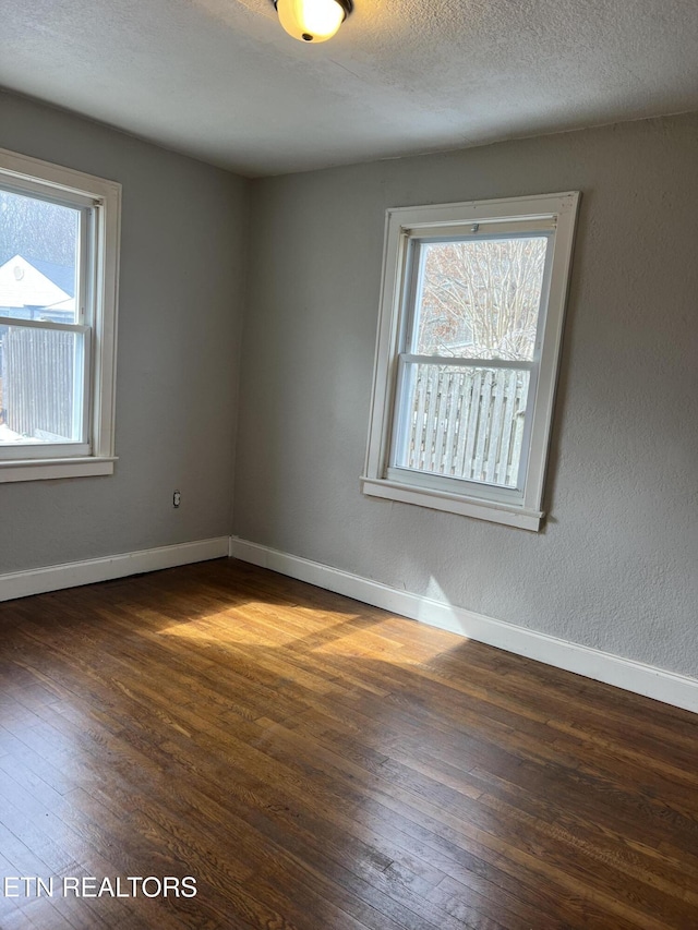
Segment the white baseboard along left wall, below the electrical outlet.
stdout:
<svg viewBox="0 0 698 930">
<path fill-rule="evenodd" d="M 174 546 L 128 552 L 109 555 L 104 558 L 88 558 L 84 561 L 70 561 L 65 565 L 49 565 L 46 568 L 33 568 L 28 571 L 15 571 L 0 575 L 0 601 L 14 597 L 27 597 L 43 594 L 45 591 L 59 591 L 62 588 L 75 588 L 92 584 L 95 581 L 109 581 L 127 575 L 141 575 L 144 571 L 157 571 L 160 568 L 173 568 L 191 561 L 205 561 L 228 555 L 229 538 L 196 540 L 193 543 L 180 543 Z"/>
</svg>

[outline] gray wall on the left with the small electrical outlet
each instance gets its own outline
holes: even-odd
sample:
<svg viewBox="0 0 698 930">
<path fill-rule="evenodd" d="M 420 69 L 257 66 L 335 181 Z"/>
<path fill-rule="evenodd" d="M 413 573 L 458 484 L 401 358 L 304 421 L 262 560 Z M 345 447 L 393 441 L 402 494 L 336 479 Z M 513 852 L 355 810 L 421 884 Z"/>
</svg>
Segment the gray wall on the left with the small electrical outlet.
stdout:
<svg viewBox="0 0 698 930">
<path fill-rule="evenodd" d="M 0 484 L 0 573 L 227 535 L 248 182 L 7 94 L 0 146 L 123 184 L 116 474 Z"/>
</svg>

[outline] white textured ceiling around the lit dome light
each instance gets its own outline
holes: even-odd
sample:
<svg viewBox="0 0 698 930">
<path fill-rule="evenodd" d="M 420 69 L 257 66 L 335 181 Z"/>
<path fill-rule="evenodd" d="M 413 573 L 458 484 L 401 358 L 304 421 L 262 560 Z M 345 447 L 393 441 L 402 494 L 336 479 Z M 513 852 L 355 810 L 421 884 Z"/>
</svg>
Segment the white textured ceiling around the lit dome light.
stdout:
<svg viewBox="0 0 698 930">
<path fill-rule="evenodd" d="M 698 110 L 696 0 L 2 0 L 0 85 L 250 177 Z M 1 142 L 0 142 L 1 144 Z"/>
</svg>

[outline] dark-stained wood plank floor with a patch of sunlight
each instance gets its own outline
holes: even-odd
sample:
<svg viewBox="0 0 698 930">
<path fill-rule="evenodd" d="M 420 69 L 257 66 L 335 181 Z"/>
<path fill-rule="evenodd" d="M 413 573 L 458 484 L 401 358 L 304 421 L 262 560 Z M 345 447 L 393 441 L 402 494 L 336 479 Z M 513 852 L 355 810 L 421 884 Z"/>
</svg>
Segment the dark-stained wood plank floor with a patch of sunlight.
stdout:
<svg viewBox="0 0 698 930">
<path fill-rule="evenodd" d="M 10 881 L 0 926 L 691 930 L 697 748 L 698 716 L 229 559 L 8 602 L 0 878 L 55 887 Z"/>
</svg>

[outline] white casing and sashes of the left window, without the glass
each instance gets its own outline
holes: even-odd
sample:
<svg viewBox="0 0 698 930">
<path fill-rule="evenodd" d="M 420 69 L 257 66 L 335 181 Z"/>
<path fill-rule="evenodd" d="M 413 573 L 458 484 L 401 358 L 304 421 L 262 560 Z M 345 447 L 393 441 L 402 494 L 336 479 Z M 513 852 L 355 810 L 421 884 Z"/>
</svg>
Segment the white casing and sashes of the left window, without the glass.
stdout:
<svg viewBox="0 0 698 930">
<path fill-rule="evenodd" d="M 75 321 L 2 316 L 0 325 L 75 339 L 74 442 L 0 444 L 0 483 L 111 474 L 115 454 L 117 305 L 121 185 L 0 149 L 0 189 L 80 215 Z"/>
</svg>

